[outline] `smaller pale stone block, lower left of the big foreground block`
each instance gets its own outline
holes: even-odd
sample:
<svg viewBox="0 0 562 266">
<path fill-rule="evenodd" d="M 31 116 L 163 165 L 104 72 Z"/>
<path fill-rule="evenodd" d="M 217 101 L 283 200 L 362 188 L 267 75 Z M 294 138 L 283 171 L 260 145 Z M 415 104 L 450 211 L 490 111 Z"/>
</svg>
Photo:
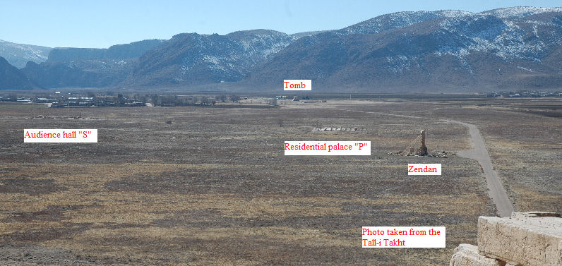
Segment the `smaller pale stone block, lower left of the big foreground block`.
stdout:
<svg viewBox="0 0 562 266">
<path fill-rule="evenodd" d="M 488 258 L 478 253 L 478 247 L 470 244 L 460 244 L 454 250 L 449 266 L 505 266 L 506 262 Z"/>
</svg>

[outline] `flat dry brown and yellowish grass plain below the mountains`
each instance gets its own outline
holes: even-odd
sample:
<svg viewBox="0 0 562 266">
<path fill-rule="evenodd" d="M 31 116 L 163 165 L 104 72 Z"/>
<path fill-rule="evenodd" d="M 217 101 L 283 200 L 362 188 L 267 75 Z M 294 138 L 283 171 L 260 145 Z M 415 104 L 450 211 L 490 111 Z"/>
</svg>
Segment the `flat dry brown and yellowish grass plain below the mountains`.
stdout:
<svg viewBox="0 0 562 266">
<path fill-rule="evenodd" d="M 560 118 L 460 104 L 0 104 L 0 264 L 448 265 L 494 206 L 475 161 L 388 155 L 420 129 L 430 152 L 457 152 L 471 147 L 466 128 L 438 119 L 482 125 L 516 209 L 559 212 L 562 200 Z M 29 119 L 38 114 L 100 119 Z M 23 143 L 23 128 L 97 128 L 98 143 Z M 363 157 L 285 157 L 285 140 L 373 147 Z M 407 176 L 421 162 L 443 164 L 443 175 Z M 446 226 L 447 247 L 361 248 L 361 226 Z"/>
</svg>

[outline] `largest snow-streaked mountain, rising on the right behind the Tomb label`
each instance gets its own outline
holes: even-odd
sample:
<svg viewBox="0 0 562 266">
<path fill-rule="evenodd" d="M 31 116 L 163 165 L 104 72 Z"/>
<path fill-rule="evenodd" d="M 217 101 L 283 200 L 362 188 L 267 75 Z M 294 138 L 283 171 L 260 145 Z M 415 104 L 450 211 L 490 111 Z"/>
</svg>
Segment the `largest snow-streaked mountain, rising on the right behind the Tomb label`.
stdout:
<svg viewBox="0 0 562 266">
<path fill-rule="evenodd" d="M 301 38 L 245 83 L 312 79 L 332 91 L 561 87 L 561 44 L 562 8 L 400 12 Z"/>
</svg>

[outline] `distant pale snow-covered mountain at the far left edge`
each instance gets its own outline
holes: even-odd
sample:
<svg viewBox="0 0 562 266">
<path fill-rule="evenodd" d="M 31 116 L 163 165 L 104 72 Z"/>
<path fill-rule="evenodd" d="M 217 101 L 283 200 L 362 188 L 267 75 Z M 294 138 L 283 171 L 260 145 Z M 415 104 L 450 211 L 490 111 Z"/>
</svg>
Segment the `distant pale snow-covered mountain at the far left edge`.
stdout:
<svg viewBox="0 0 562 266">
<path fill-rule="evenodd" d="M 41 63 L 47 60 L 52 48 L 29 44 L 16 44 L 0 40 L 0 56 L 16 68 L 23 68 L 28 61 Z"/>
</svg>

